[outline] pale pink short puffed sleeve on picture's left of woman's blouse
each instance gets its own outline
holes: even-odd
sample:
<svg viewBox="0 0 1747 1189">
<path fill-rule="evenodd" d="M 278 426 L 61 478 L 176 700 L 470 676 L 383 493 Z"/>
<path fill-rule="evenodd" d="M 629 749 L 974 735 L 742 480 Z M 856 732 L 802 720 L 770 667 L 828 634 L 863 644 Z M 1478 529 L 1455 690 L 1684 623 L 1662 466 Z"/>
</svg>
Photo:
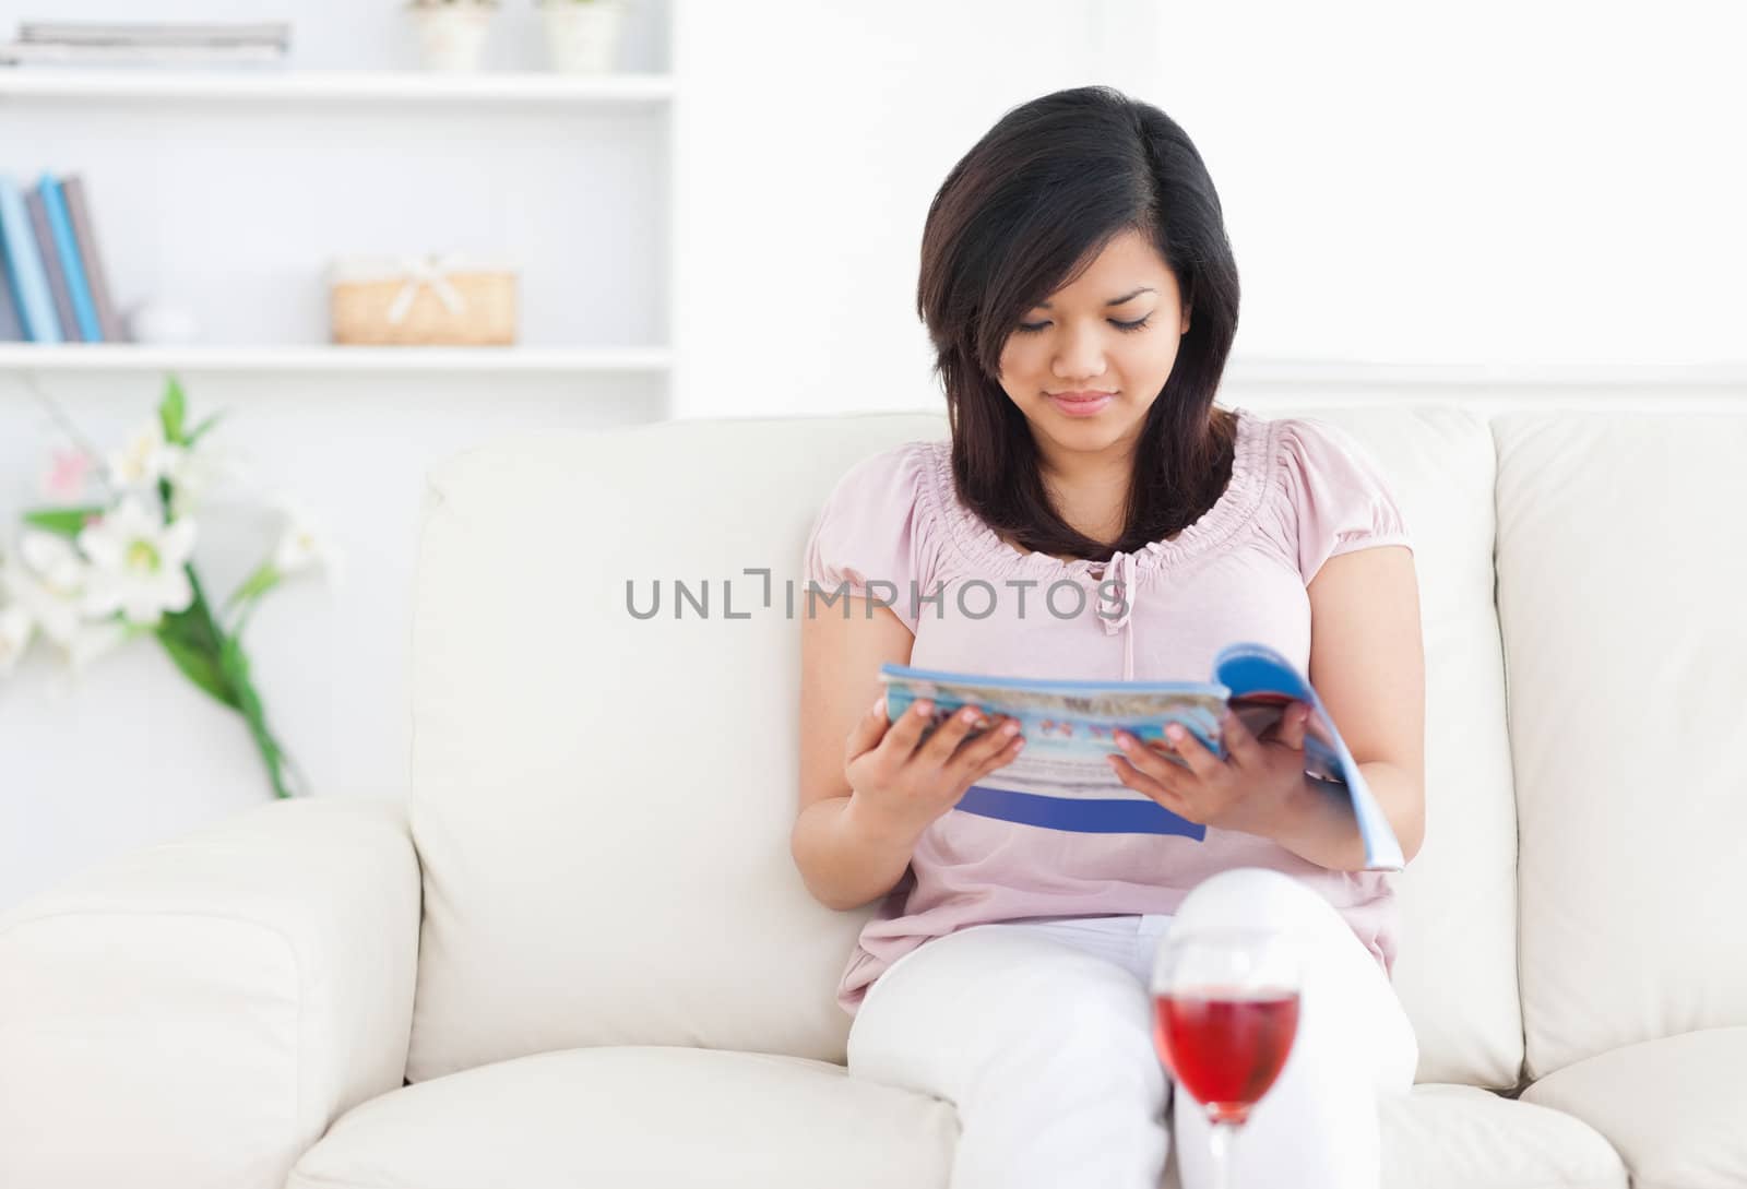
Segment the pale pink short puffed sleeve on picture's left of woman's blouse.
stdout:
<svg viewBox="0 0 1747 1189">
<path fill-rule="evenodd" d="M 837 480 L 807 538 L 805 576 L 818 583 L 819 599 L 844 588 L 889 602 L 915 632 L 914 590 L 926 594 L 938 536 L 922 498 L 924 468 L 926 443 L 907 442 L 861 459 Z"/>
</svg>

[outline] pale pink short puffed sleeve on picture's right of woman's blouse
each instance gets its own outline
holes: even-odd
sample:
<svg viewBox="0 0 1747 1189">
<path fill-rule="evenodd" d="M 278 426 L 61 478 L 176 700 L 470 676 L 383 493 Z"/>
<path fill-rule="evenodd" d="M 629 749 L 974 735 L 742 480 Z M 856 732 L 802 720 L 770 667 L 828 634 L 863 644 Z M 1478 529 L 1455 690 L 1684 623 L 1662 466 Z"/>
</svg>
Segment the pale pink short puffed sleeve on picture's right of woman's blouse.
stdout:
<svg viewBox="0 0 1747 1189">
<path fill-rule="evenodd" d="M 1406 519 L 1378 464 L 1357 438 L 1317 417 L 1281 426 L 1282 520 L 1309 587 L 1322 562 L 1377 545 L 1413 548 Z"/>
</svg>

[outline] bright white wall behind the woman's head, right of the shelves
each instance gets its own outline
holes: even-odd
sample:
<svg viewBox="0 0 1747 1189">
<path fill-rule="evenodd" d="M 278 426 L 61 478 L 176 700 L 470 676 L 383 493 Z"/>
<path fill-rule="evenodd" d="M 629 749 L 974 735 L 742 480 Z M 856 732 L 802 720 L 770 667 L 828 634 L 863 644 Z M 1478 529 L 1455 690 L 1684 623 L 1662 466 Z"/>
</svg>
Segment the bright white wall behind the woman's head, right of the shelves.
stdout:
<svg viewBox="0 0 1747 1189">
<path fill-rule="evenodd" d="M 1066 30 L 1046 0 L 765 7 L 788 30 L 748 47 L 765 70 L 720 52 L 739 5 L 697 5 L 678 47 L 681 168 L 749 178 L 678 192 L 683 229 L 704 204 L 732 229 L 687 253 L 713 382 L 681 388 L 685 416 L 933 400 L 928 203 L 1008 108 L 1087 82 L 1202 150 L 1244 283 L 1235 360 L 1747 360 L 1737 3 L 1115 2 Z"/>
</svg>

